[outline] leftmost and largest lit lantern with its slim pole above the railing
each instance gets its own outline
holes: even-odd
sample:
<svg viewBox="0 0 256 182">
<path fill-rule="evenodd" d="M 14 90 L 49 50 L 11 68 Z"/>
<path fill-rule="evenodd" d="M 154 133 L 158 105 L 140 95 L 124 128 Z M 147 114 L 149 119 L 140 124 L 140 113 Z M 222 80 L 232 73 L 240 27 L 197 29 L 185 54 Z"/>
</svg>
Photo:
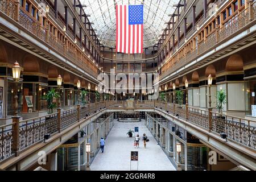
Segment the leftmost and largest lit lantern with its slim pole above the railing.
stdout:
<svg viewBox="0 0 256 182">
<path fill-rule="evenodd" d="M 14 115 L 15 117 L 18 116 L 18 82 L 19 82 L 19 76 L 20 76 L 20 66 L 19 63 L 16 61 L 13 65 L 13 80 L 15 82 L 15 94 L 14 94 L 14 100 L 15 100 L 15 107 L 14 107 Z"/>
</svg>

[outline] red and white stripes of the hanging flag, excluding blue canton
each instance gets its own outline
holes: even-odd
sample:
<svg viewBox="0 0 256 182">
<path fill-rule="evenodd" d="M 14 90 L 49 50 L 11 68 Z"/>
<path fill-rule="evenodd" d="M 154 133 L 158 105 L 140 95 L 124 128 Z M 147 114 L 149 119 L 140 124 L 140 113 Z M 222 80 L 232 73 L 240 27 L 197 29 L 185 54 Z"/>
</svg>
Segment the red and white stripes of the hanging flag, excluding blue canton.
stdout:
<svg viewBox="0 0 256 182">
<path fill-rule="evenodd" d="M 129 24 L 129 5 L 116 5 L 116 49 L 121 53 L 143 52 L 143 24 Z"/>
</svg>

